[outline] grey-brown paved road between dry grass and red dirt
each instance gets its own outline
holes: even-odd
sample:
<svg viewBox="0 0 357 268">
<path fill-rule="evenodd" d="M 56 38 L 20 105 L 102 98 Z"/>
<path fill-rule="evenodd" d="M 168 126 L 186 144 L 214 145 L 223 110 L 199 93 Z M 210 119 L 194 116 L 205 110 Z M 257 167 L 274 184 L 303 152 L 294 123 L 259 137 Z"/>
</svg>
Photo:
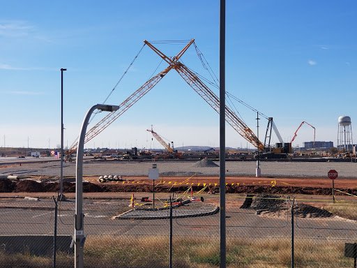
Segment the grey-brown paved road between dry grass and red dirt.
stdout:
<svg viewBox="0 0 357 268">
<path fill-rule="evenodd" d="M 158 196 L 165 200 L 165 196 Z M 218 198 L 218 197 L 215 197 Z M 128 198 L 116 200 L 84 200 L 84 232 L 93 235 L 149 235 L 169 234 L 169 220 L 123 220 L 114 216 L 128 209 Z M 218 200 L 215 200 L 217 202 Z M 209 202 L 209 201 L 208 201 Z M 201 202 L 195 202 L 196 209 Z M 17 206 L 18 208 L 14 208 Z M 75 200 L 59 206 L 58 234 L 74 232 Z M 150 211 L 144 212 L 150 214 Z M 168 213 L 168 211 L 167 211 Z M 174 211 L 175 215 L 175 211 Z M 254 210 L 230 207 L 226 212 L 227 237 L 289 238 L 291 219 L 287 211 L 280 216 L 258 216 Z M 174 219 L 174 236 L 219 237 L 219 214 Z M 54 204 L 49 199 L 38 202 L 24 199 L 0 200 L 0 234 L 53 234 Z M 337 239 L 356 241 L 357 222 L 341 218 L 296 218 L 296 238 Z"/>
</svg>

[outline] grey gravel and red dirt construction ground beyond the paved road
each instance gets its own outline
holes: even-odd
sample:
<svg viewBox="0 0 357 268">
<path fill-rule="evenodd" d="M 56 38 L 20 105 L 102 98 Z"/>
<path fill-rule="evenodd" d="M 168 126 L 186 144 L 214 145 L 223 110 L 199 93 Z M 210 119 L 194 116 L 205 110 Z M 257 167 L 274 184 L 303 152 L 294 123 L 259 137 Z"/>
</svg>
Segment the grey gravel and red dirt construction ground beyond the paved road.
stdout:
<svg viewBox="0 0 357 268">
<path fill-rule="evenodd" d="M 161 161 L 158 180 L 149 180 L 151 162 L 107 161 L 106 163 L 86 160 L 84 163 L 84 196 L 116 196 L 116 193 L 183 193 L 192 186 L 195 193 L 206 187 L 203 193 L 219 191 L 218 162 L 208 161 Z M 262 162 L 261 177 L 255 177 L 255 162 L 226 163 L 227 193 L 272 193 L 294 195 L 331 195 L 332 180 L 328 170 L 335 169 L 335 195 L 357 195 L 357 163 L 280 163 Z M 0 176 L 17 177 L 13 181 L 0 179 L 0 194 L 9 196 L 36 193 L 37 196 L 53 195 L 60 191 L 60 161 L 43 163 L 11 163 L 0 165 Z M 117 174 L 122 181 L 98 181 L 100 175 Z M 286 174 L 286 175 L 284 175 Z M 75 163 L 66 163 L 63 169 L 63 193 L 75 194 Z M 209 186 L 209 187 L 208 187 Z"/>
</svg>

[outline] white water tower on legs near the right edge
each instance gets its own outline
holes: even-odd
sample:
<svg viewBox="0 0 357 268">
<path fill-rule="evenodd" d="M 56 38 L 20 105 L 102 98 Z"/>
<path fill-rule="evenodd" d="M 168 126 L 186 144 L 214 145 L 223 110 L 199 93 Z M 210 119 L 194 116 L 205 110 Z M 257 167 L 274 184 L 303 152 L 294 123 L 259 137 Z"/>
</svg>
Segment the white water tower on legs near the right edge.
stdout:
<svg viewBox="0 0 357 268">
<path fill-rule="evenodd" d="M 351 117 L 342 115 L 338 117 L 337 149 L 339 151 L 352 152 L 352 126 Z"/>
</svg>

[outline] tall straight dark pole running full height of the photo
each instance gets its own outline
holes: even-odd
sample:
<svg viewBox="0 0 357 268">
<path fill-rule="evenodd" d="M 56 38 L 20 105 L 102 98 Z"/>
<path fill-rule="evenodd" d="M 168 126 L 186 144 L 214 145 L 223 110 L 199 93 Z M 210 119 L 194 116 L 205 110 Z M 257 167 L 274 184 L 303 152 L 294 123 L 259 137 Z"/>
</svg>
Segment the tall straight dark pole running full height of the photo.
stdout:
<svg viewBox="0 0 357 268">
<path fill-rule="evenodd" d="M 220 0 L 220 268 L 226 267 L 225 177 L 225 18 L 226 1 Z"/>
</svg>

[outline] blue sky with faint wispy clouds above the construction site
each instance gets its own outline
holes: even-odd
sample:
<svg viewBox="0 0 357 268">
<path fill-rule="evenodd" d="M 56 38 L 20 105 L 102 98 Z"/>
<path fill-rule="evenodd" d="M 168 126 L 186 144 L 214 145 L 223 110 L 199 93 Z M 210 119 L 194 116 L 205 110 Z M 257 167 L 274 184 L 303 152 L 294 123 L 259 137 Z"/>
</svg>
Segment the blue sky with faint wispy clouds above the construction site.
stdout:
<svg viewBox="0 0 357 268">
<path fill-rule="evenodd" d="M 227 0 L 226 5 L 226 90 L 230 94 L 273 117 L 285 142 L 307 121 L 316 128 L 317 140 L 336 144 L 341 115 L 351 117 L 357 135 L 356 1 Z M 143 40 L 195 38 L 219 76 L 218 0 L 0 0 L 0 6 L 1 147 L 61 144 L 61 68 L 67 68 L 63 124 L 64 145 L 70 146 L 86 111 L 107 98 Z M 173 57 L 184 45 L 158 44 L 158 48 Z M 210 78 L 193 46 L 181 59 Z M 166 67 L 145 46 L 107 104 L 119 105 Z M 257 114 L 234 105 L 257 133 Z M 261 118 L 263 141 L 266 124 Z M 172 70 L 85 147 L 158 148 L 146 131 L 151 125 L 176 147 L 219 146 L 218 114 Z M 247 147 L 233 128 L 226 129 L 227 147 Z M 293 146 L 312 140 L 313 129 L 305 125 Z"/>
</svg>

